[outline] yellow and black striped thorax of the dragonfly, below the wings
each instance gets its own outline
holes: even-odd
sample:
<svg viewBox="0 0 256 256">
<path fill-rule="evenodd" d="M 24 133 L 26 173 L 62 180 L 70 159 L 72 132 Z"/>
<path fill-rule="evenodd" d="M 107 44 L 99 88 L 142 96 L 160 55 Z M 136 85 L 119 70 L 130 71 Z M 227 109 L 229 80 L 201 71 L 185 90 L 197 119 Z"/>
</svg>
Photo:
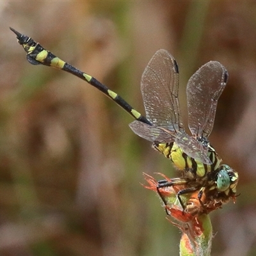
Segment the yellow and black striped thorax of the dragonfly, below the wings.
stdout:
<svg viewBox="0 0 256 256">
<path fill-rule="evenodd" d="M 161 152 L 165 157 L 170 158 L 180 171 L 185 170 L 185 176 L 189 179 L 200 178 L 204 180 L 204 177 L 205 179 L 208 179 L 207 173 L 216 171 L 221 162 L 221 159 L 211 145 L 208 145 L 208 157 L 212 164 L 204 164 L 193 157 L 189 157 L 175 142 L 154 143 L 154 148 Z"/>
</svg>

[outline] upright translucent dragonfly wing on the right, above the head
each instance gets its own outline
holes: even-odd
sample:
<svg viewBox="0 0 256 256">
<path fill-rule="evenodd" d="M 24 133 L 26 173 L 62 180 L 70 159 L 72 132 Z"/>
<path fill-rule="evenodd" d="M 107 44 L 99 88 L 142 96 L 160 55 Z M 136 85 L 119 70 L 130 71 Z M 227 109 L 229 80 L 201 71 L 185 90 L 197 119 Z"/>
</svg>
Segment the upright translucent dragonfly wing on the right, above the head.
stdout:
<svg viewBox="0 0 256 256">
<path fill-rule="evenodd" d="M 228 80 L 226 68 L 218 61 L 200 67 L 188 81 L 188 122 L 194 136 L 208 137 L 214 125 L 218 99 Z"/>
</svg>

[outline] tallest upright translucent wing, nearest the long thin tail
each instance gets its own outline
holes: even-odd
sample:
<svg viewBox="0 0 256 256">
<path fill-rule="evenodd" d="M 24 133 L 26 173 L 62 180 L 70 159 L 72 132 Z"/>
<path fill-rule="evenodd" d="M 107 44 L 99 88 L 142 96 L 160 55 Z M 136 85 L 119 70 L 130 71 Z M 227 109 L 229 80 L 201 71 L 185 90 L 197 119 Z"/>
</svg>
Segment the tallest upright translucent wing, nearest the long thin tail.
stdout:
<svg viewBox="0 0 256 256">
<path fill-rule="evenodd" d="M 141 93 L 148 120 L 170 131 L 183 131 L 178 99 L 179 68 L 166 50 L 157 51 L 141 78 Z"/>
</svg>

